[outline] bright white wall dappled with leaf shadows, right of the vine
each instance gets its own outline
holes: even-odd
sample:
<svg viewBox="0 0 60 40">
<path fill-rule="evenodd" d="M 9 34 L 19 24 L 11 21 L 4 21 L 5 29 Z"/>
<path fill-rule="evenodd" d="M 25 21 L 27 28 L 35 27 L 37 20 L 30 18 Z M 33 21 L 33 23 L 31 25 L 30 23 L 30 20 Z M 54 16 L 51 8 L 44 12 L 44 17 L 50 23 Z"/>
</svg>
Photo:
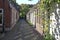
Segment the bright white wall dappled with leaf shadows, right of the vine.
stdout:
<svg viewBox="0 0 60 40">
<path fill-rule="evenodd" d="M 58 4 L 56 5 L 55 9 L 56 14 L 53 12 L 53 15 L 50 16 L 50 20 L 52 20 L 50 23 L 50 34 L 53 35 L 56 40 L 60 40 L 60 8 L 58 7 Z"/>
</svg>

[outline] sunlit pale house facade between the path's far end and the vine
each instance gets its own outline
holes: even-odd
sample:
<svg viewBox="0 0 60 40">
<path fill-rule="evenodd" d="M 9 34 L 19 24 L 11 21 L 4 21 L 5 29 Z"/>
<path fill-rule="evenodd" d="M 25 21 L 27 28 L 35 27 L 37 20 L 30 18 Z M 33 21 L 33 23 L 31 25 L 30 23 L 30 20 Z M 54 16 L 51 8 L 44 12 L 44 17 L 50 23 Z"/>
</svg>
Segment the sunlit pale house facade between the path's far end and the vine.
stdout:
<svg viewBox="0 0 60 40">
<path fill-rule="evenodd" d="M 33 27 L 38 31 L 41 35 L 43 35 L 43 26 L 42 26 L 42 18 L 40 15 L 40 10 L 37 6 L 31 8 L 31 10 L 26 14 L 26 20 L 32 23 Z"/>
</svg>

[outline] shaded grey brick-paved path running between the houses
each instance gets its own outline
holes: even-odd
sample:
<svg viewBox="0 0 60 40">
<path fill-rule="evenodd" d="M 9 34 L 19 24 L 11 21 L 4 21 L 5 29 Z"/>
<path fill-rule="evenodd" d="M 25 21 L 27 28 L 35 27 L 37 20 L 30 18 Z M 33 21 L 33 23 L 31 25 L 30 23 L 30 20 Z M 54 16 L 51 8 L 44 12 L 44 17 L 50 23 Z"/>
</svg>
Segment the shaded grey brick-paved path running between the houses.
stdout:
<svg viewBox="0 0 60 40">
<path fill-rule="evenodd" d="M 21 19 L 15 27 L 7 32 L 4 38 L 0 40 L 42 40 L 43 38 L 39 35 L 32 26 Z"/>
</svg>

